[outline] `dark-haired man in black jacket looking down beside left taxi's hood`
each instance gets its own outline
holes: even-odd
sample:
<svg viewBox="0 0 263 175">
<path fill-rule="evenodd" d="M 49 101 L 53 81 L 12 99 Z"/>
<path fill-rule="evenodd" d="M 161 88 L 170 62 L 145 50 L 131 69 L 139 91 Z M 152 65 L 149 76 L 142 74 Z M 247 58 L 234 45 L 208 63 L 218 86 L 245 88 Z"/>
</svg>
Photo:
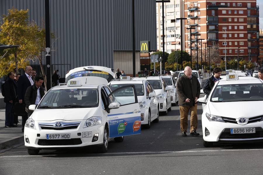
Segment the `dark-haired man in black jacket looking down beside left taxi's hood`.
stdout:
<svg viewBox="0 0 263 175">
<path fill-rule="evenodd" d="M 28 117 L 30 117 L 30 115 L 33 113 L 33 111 L 30 111 L 28 107 L 31 104 L 38 105 L 39 101 L 45 95 L 44 88 L 42 87 L 43 82 L 44 82 L 43 77 L 41 76 L 36 77 L 35 84 L 27 88 L 27 91 L 25 93 L 25 103 L 26 103 L 26 111 L 27 111 Z"/>
</svg>

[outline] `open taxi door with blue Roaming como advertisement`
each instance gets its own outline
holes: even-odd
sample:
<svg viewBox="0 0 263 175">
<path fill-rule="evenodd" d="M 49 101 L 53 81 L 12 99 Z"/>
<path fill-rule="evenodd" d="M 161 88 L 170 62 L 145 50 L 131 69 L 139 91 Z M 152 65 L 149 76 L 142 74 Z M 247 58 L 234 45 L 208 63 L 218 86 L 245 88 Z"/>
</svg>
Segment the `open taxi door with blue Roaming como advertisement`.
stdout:
<svg viewBox="0 0 263 175">
<path fill-rule="evenodd" d="M 108 95 L 109 137 L 141 134 L 141 111 L 134 85 L 114 90 Z"/>
</svg>

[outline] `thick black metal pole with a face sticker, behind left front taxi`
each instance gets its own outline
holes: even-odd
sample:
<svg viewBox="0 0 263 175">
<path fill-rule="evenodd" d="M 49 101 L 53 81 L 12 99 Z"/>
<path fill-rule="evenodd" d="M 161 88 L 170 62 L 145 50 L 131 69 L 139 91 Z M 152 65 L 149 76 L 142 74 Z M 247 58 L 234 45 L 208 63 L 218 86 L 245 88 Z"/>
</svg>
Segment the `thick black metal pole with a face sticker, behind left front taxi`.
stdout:
<svg viewBox="0 0 263 175">
<path fill-rule="evenodd" d="M 46 48 L 50 50 L 50 26 L 49 26 L 49 0 L 45 0 L 45 28 L 46 28 Z M 50 53 L 46 53 L 46 88 L 51 88 L 51 60 Z"/>
</svg>

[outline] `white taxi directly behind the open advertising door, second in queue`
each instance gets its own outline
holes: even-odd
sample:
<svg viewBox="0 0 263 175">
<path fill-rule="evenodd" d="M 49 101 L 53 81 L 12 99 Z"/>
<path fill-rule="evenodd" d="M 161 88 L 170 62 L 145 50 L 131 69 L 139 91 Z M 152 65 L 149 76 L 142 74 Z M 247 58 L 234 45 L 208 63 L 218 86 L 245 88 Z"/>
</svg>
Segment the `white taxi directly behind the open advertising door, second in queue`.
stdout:
<svg viewBox="0 0 263 175">
<path fill-rule="evenodd" d="M 127 76 L 130 79 L 129 76 Z M 121 77 L 124 78 L 124 77 Z M 147 80 L 112 80 L 108 86 L 112 91 L 133 84 L 141 110 L 141 124 L 150 128 L 151 122 L 159 122 L 159 103 L 153 87 Z M 118 99 L 118 97 L 116 97 Z"/>
</svg>

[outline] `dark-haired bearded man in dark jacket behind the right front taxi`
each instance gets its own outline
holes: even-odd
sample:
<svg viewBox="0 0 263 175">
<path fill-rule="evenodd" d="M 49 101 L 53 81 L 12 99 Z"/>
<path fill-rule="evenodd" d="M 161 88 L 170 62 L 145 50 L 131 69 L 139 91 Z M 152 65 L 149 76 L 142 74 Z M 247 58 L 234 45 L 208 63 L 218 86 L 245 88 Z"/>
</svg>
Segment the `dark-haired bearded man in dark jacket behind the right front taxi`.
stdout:
<svg viewBox="0 0 263 175">
<path fill-rule="evenodd" d="M 222 73 L 222 69 L 219 67 L 216 67 L 213 70 L 213 75 L 205 81 L 203 90 L 205 94 L 207 94 L 207 96 L 210 94 L 212 88 L 214 87 L 214 83 L 222 79 L 220 78 L 221 73 Z"/>
</svg>

